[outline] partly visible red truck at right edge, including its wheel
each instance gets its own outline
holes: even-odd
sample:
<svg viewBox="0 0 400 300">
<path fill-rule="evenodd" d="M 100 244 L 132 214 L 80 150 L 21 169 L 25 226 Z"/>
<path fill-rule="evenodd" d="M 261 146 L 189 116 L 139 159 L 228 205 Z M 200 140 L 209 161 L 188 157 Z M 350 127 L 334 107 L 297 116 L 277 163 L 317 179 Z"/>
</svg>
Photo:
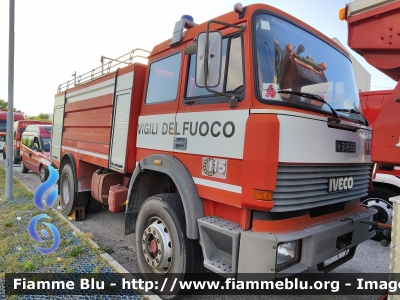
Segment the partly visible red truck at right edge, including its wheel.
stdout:
<svg viewBox="0 0 400 300">
<path fill-rule="evenodd" d="M 397 82 L 400 80 L 400 31 L 397 26 L 399 9 L 399 0 L 356 0 L 340 11 L 340 18 L 347 20 L 350 48 Z M 397 175 L 400 167 L 400 84 L 393 91 L 371 92 L 362 97 L 367 101 L 367 113 L 374 123 L 372 160 L 376 162 L 375 181 L 378 182 L 378 185 L 374 183 L 376 187 L 372 191 L 376 199 L 369 201 L 368 205 L 378 208 L 378 220 L 390 223 L 392 206 L 388 199 L 399 194 L 399 189 L 395 187 L 398 178 L 392 175 Z"/>
</svg>

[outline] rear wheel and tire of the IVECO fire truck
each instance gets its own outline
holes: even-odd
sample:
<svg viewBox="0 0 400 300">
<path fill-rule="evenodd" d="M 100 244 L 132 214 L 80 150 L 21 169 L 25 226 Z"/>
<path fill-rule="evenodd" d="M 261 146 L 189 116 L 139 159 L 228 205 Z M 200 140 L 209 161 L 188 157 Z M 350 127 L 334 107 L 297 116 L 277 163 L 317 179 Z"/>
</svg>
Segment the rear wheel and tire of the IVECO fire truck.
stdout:
<svg viewBox="0 0 400 300">
<path fill-rule="evenodd" d="M 89 200 L 88 192 L 75 192 L 74 174 L 70 164 L 64 165 L 60 176 L 61 211 L 69 216 L 74 207 L 85 207 Z"/>
</svg>

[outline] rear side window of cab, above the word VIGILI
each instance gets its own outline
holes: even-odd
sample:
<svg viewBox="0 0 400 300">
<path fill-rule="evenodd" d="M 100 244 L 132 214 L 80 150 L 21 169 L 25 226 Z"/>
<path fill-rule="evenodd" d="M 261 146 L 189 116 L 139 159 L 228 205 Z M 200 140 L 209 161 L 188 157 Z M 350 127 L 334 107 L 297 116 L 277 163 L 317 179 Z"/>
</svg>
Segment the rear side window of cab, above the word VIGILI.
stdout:
<svg viewBox="0 0 400 300">
<path fill-rule="evenodd" d="M 181 52 L 153 62 L 150 65 L 146 104 L 176 99 L 181 69 Z"/>
</svg>

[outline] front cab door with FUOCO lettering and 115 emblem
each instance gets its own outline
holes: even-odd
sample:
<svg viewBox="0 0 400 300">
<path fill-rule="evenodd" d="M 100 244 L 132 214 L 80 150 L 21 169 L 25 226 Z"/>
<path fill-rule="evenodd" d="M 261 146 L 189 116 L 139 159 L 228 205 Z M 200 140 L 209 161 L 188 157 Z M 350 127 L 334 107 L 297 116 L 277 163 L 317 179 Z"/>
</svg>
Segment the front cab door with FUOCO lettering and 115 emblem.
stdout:
<svg viewBox="0 0 400 300">
<path fill-rule="evenodd" d="M 250 100 L 246 98 L 243 37 L 232 31 L 222 32 L 220 83 L 211 89 L 234 95 L 238 106 L 229 107 L 229 96 L 199 88 L 196 54 L 187 55 L 174 155 L 188 167 L 201 198 L 241 207 L 241 162 Z"/>
</svg>

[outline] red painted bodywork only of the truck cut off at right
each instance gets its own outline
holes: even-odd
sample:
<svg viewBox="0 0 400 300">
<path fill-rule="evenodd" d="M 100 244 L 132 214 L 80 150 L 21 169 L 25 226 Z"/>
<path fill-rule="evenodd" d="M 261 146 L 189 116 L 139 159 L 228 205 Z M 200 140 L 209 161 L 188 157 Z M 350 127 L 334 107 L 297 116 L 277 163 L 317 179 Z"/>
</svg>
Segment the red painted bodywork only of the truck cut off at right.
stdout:
<svg viewBox="0 0 400 300">
<path fill-rule="evenodd" d="M 347 18 L 350 48 L 395 81 L 400 80 L 399 9 L 400 1 L 394 1 L 367 7 L 359 13 L 350 12 Z M 400 165 L 399 107 L 400 84 L 397 84 L 374 122 L 371 153 L 374 162 Z"/>
</svg>

